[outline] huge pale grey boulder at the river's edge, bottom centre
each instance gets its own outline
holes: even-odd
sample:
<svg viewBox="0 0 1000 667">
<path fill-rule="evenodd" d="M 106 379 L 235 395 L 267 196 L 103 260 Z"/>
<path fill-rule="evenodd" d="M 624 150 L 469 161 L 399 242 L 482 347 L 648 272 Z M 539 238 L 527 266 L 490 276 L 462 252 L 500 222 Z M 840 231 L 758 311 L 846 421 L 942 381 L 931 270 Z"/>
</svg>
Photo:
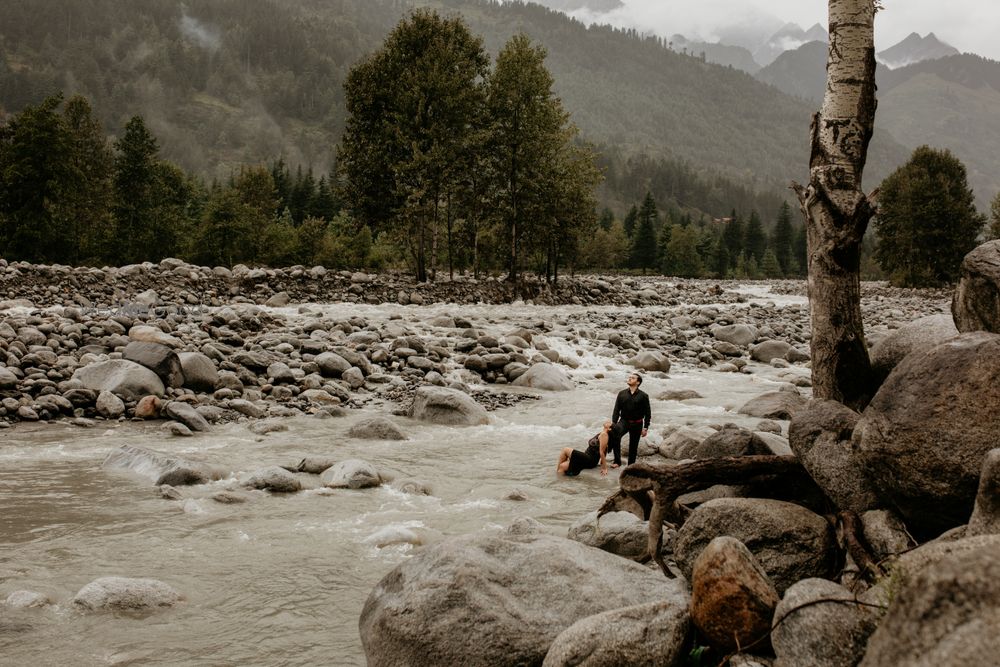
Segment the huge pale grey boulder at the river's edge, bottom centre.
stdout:
<svg viewBox="0 0 1000 667">
<path fill-rule="evenodd" d="M 375 586 L 361 611 L 369 667 L 540 665 L 581 619 L 669 603 L 683 583 L 638 563 L 515 524 L 425 547 Z"/>
</svg>

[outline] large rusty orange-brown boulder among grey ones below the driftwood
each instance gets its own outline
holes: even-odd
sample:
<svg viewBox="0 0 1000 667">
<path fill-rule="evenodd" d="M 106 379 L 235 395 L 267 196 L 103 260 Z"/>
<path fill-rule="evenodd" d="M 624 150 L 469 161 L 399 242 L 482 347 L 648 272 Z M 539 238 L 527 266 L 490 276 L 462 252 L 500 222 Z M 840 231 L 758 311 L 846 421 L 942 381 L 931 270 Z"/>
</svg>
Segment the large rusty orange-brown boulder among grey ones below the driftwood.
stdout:
<svg viewBox="0 0 1000 667">
<path fill-rule="evenodd" d="M 735 538 L 716 537 L 694 561 L 691 621 L 720 653 L 748 644 L 766 648 L 778 599 L 753 554 Z"/>
</svg>

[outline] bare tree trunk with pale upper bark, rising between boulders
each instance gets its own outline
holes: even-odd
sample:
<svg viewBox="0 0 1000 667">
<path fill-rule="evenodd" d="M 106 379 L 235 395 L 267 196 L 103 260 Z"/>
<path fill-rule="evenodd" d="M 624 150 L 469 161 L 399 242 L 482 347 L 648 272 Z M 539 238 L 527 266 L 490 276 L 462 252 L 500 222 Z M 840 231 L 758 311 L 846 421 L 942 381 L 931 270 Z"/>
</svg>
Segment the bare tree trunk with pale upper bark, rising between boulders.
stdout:
<svg viewBox="0 0 1000 667">
<path fill-rule="evenodd" d="M 826 94 L 811 125 L 806 218 L 813 395 L 861 410 L 873 391 L 861 321 L 861 240 L 875 213 L 861 177 L 875 124 L 875 0 L 829 0 Z"/>
</svg>

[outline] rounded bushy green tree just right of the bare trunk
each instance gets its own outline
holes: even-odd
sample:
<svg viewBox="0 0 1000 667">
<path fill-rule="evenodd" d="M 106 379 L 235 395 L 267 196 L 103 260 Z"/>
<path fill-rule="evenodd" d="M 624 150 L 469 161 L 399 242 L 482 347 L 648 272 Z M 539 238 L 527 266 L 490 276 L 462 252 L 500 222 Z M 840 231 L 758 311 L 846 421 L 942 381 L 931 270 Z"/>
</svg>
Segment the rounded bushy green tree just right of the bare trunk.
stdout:
<svg viewBox="0 0 1000 667">
<path fill-rule="evenodd" d="M 882 181 L 875 259 L 893 283 L 929 287 L 958 280 L 962 258 L 986 223 L 974 199 L 965 165 L 929 146 Z"/>
</svg>

